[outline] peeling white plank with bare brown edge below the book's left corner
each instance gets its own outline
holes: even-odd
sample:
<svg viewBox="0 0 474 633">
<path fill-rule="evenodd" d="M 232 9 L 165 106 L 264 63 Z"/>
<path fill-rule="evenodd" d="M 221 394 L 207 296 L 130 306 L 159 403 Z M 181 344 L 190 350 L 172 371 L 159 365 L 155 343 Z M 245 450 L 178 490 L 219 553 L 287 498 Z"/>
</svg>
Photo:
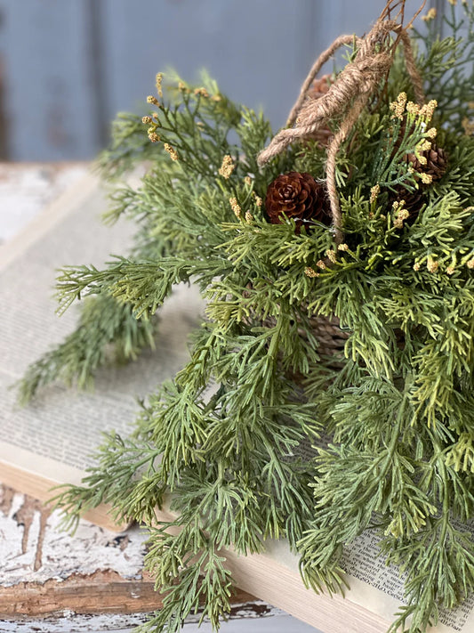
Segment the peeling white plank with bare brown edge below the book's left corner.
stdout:
<svg viewBox="0 0 474 633">
<path fill-rule="evenodd" d="M 142 570 L 145 534 L 138 526 L 116 536 L 81 522 L 82 530 L 72 537 L 58 532 L 58 514 L 38 499 L 0 487 L 0 618 L 64 611 L 145 613 L 160 608 L 163 596 Z M 91 547 L 92 567 L 86 556 Z M 232 596 L 236 609 L 254 602 L 239 589 Z M 261 605 L 258 610 L 264 613 L 266 608 Z"/>
</svg>

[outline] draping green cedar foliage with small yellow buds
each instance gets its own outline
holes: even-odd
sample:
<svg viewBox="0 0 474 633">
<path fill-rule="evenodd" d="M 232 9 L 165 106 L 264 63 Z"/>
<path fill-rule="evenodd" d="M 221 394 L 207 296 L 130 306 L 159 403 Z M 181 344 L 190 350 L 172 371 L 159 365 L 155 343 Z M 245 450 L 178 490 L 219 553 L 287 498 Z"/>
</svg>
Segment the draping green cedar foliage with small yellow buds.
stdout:
<svg viewBox="0 0 474 633">
<path fill-rule="evenodd" d="M 116 120 L 104 174 L 149 160 L 141 186 L 118 185 L 108 211 L 110 222 L 133 217 L 135 248 L 102 270 L 60 272 L 60 309 L 84 298 L 83 320 L 28 370 L 20 394 L 64 377 L 84 385 L 110 342 L 133 357 L 173 284 L 192 281 L 205 296 L 189 363 L 149 395 L 133 436 L 110 434 L 84 485 L 57 499 L 71 526 L 103 501 L 148 524 L 147 566 L 166 596 L 142 633 L 178 631 L 198 609 L 217 629 L 232 583 L 219 550 L 252 554 L 268 538 L 289 541 L 310 587 L 337 592 L 342 547 L 377 529 L 382 556 L 406 574 L 392 631 L 425 630 L 474 588 L 474 544 L 460 527 L 474 516 L 474 9 L 463 3 L 461 20 L 450 9 L 448 37 L 430 23 L 414 34 L 438 101 L 432 121 L 399 96 L 411 97 L 398 59 L 338 158 L 342 249 L 324 223 L 271 224 L 261 204 L 278 174 L 324 178 L 325 147 L 257 166 L 268 121 L 208 77 L 197 88 L 168 77 L 145 125 Z M 422 185 L 406 156 L 432 141 L 430 126 L 448 170 Z M 421 187 L 405 222 L 393 193 Z M 328 250 L 333 264 L 318 267 Z M 314 315 L 340 320 L 348 338 L 335 357 L 319 353 Z M 296 457 L 321 434 L 331 440 L 314 459 Z M 177 535 L 154 523 L 168 492 Z"/>
</svg>

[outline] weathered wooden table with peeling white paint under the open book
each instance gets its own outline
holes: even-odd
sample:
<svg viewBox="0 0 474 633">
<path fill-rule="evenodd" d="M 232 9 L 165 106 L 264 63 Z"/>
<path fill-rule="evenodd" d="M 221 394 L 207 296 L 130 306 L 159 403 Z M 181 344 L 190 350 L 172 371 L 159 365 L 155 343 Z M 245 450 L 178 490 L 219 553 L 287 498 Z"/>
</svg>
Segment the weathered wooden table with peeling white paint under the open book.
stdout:
<svg viewBox="0 0 474 633">
<path fill-rule="evenodd" d="M 86 169 L 80 163 L 0 164 L 0 241 Z M 161 598 L 143 571 L 146 535 L 139 526 L 117 535 L 82 521 L 71 536 L 60 532 L 59 521 L 58 512 L 0 484 L 1 633 L 125 631 L 159 608 Z M 241 591 L 233 603 L 222 633 L 315 630 Z M 194 630 L 195 622 L 189 619 L 185 629 Z"/>
</svg>

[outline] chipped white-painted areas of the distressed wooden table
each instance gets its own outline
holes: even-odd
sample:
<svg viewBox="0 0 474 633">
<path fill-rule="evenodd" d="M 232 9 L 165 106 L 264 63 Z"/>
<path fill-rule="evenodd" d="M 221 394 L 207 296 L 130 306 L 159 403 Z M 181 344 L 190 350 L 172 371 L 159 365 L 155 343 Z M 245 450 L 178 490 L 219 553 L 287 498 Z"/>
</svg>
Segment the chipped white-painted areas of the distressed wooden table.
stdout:
<svg viewBox="0 0 474 633">
<path fill-rule="evenodd" d="M 0 242 L 10 239 L 45 204 L 84 175 L 85 164 L 0 164 Z M 72 578 L 91 579 L 107 572 L 111 578 L 142 580 L 146 535 L 133 526 L 117 535 L 81 521 L 74 536 L 59 529 L 60 514 L 35 499 L 2 488 L 0 496 L 0 596 L 2 588 L 32 587 Z M 137 585 L 138 586 L 138 585 Z M 139 587 L 139 586 L 138 586 Z M 137 589 L 137 598 L 140 596 Z M 132 592 L 133 594 L 133 592 Z M 133 597 L 133 595 L 132 595 Z M 63 611 L 44 619 L 0 620 L 0 633 L 80 633 L 130 631 L 146 614 L 83 614 Z M 197 630 L 191 618 L 186 631 Z M 210 633 L 208 624 L 200 631 Z M 316 631 L 291 616 L 261 603 L 234 605 L 223 633 L 309 633 Z"/>
</svg>

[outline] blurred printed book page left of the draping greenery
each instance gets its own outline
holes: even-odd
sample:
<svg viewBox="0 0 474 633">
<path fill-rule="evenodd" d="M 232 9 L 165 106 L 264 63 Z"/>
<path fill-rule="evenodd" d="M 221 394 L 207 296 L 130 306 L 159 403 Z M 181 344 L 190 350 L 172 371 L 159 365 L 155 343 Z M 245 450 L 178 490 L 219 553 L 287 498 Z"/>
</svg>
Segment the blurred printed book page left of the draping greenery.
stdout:
<svg viewBox="0 0 474 633">
<path fill-rule="evenodd" d="M 51 385 L 20 408 L 12 385 L 29 363 L 76 326 L 76 306 L 60 317 L 55 314 L 56 269 L 65 264 L 102 267 L 109 254 L 126 254 L 134 231 L 126 221 L 112 227 L 100 223 L 107 202 L 91 176 L 59 203 L 13 244 L 0 247 L 0 459 L 68 481 L 67 472 L 72 476 L 92 465 L 91 453 L 102 433 L 126 434 L 139 410 L 137 398 L 188 361 L 187 337 L 203 304 L 196 288 L 175 288 L 160 312 L 156 350 L 125 366 L 101 369 L 92 392 Z"/>
</svg>

